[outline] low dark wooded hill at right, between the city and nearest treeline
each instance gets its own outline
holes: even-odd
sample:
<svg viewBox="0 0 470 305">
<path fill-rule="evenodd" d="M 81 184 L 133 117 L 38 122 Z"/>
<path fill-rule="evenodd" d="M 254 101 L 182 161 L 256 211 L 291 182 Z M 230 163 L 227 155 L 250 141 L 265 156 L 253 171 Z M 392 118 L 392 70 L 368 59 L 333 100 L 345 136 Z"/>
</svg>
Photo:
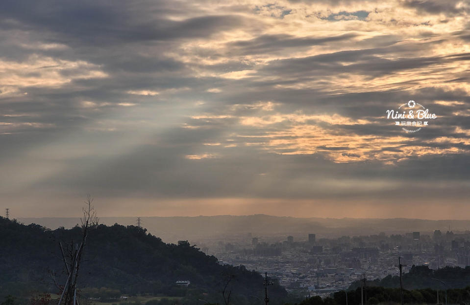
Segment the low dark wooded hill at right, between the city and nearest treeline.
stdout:
<svg viewBox="0 0 470 305">
<path fill-rule="evenodd" d="M 443 283 L 436 281 L 442 281 Z M 398 276 L 387 276 L 381 280 L 367 281 L 368 286 L 381 286 L 385 288 L 400 287 L 400 278 Z M 465 288 L 470 285 L 470 266 L 445 267 L 438 270 L 429 269 L 428 266 L 413 265 L 408 273 L 403 274 L 403 287 L 412 289 L 445 289 L 447 288 Z M 356 289 L 360 287 L 360 281 L 351 284 L 349 288 Z"/>
</svg>

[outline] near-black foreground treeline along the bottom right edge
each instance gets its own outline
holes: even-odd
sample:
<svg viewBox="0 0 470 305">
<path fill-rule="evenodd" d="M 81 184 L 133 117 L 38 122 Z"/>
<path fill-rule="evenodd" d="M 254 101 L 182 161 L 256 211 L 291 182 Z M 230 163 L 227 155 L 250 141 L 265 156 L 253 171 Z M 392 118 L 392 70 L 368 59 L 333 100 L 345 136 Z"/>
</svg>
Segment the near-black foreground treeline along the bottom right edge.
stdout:
<svg viewBox="0 0 470 305">
<path fill-rule="evenodd" d="M 364 291 L 364 304 L 400 304 L 400 289 L 385 287 L 367 287 Z M 415 289 L 403 291 L 403 302 L 405 304 L 445 304 L 445 290 L 439 290 L 439 302 L 437 300 L 437 290 Z M 436 303 L 437 302 L 437 303 Z M 470 302 L 470 286 L 463 289 L 447 290 L 448 304 L 469 304 Z M 361 304 L 361 288 L 347 291 L 347 304 Z M 287 305 L 287 304 L 286 304 Z M 292 304 L 289 304 L 292 305 Z M 321 298 L 314 296 L 307 298 L 295 305 L 346 305 L 346 293 L 344 291 L 335 292 L 332 297 Z"/>
</svg>

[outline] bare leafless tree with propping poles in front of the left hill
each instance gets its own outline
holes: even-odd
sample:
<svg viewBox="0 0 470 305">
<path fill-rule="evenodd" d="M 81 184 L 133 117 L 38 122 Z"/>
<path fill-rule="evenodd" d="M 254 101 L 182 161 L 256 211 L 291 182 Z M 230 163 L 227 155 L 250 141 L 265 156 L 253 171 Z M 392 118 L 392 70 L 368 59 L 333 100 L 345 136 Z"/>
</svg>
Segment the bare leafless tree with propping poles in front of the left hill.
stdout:
<svg viewBox="0 0 470 305">
<path fill-rule="evenodd" d="M 74 244 L 74 241 L 72 240 L 72 242 L 66 248 L 67 253 L 64 253 L 62 243 L 59 242 L 62 259 L 64 261 L 67 272 L 67 281 L 63 286 L 58 305 L 78 305 L 76 298 L 76 286 L 83 249 L 85 248 L 90 229 L 96 227 L 99 222 L 99 218 L 96 215 L 96 211 L 92 203 L 93 198 L 90 196 L 90 194 L 87 194 L 85 199 L 85 207 L 82 209 L 83 217 L 80 218 L 82 229 L 80 245 L 78 245 L 78 243 Z"/>
</svg>

